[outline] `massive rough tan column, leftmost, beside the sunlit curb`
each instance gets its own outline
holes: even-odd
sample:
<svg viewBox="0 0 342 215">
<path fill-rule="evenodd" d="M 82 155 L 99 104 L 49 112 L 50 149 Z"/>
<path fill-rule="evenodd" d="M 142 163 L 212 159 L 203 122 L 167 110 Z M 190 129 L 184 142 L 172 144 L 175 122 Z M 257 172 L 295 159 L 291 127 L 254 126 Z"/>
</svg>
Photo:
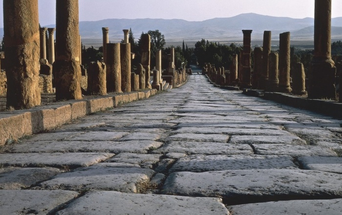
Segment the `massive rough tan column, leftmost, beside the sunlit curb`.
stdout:
<svg viewBox="0 0 342 215">
<path fill-rule="evenodd" d="M 38 0 L 4 0 L 7 108 L 41 104 Z"/>
</svg>

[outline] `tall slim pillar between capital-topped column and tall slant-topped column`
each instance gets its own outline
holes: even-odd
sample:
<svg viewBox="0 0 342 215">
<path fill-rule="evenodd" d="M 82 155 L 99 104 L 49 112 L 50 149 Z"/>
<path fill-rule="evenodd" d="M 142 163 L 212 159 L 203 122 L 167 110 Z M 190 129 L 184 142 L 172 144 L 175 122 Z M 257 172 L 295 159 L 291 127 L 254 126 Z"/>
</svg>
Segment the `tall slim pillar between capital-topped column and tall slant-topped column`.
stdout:
<svg viewBox="0 0 342 215">
<path fill-rule="evenodd" d="M 268 55 L 271 53 L 271 31 L 264 31 L 262 43 L 262 70 L 259 74 L 259 89 L 268 84 Z"/>
</svg>

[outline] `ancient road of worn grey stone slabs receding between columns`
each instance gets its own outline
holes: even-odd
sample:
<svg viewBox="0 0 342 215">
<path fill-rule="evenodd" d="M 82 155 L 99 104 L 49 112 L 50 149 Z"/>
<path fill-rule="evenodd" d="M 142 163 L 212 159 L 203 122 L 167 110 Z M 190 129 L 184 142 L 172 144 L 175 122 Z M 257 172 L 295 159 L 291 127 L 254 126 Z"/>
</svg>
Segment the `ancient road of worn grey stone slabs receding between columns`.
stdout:
<svg viewBox="0 0 342 215">
<path fill-rule="evenodd" d="M 0 214 L 341 215 L 341 124 L 195 74 L 2 147 Z"/>
</svg>

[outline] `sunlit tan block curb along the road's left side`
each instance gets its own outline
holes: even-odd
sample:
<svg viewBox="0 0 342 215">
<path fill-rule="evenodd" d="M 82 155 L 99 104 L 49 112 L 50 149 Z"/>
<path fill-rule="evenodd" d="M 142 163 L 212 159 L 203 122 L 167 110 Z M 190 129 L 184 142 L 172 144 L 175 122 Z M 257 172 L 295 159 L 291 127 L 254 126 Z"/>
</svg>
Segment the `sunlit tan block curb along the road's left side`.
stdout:
<svg viewBox="0 0 342 215">
<path fill-rule="evenodd" d="M 156 89 L 148 89 L 114 96 L 70 100 L 25 110 L 0 112 L 0 145 L 4 145 L 8 139 L 18 139 L 24 135 L 54 129 L 90 113 L 116 108 L 121 104 L 139 99 L 147 99 L 156 92 Z"/>
</svg>

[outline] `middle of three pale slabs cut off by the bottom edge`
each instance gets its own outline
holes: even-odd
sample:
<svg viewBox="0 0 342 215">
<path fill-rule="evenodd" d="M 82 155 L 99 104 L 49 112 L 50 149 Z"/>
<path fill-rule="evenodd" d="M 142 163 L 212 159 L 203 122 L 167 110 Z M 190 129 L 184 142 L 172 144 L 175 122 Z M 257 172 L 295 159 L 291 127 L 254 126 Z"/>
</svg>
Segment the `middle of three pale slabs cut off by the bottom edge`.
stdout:
<svg viewBox="0 0 342 215">
<path fill-rule="evenodd" d="M 219 198 L 90 192 L 56 215 L 229 215 Z"/>
</svg>

